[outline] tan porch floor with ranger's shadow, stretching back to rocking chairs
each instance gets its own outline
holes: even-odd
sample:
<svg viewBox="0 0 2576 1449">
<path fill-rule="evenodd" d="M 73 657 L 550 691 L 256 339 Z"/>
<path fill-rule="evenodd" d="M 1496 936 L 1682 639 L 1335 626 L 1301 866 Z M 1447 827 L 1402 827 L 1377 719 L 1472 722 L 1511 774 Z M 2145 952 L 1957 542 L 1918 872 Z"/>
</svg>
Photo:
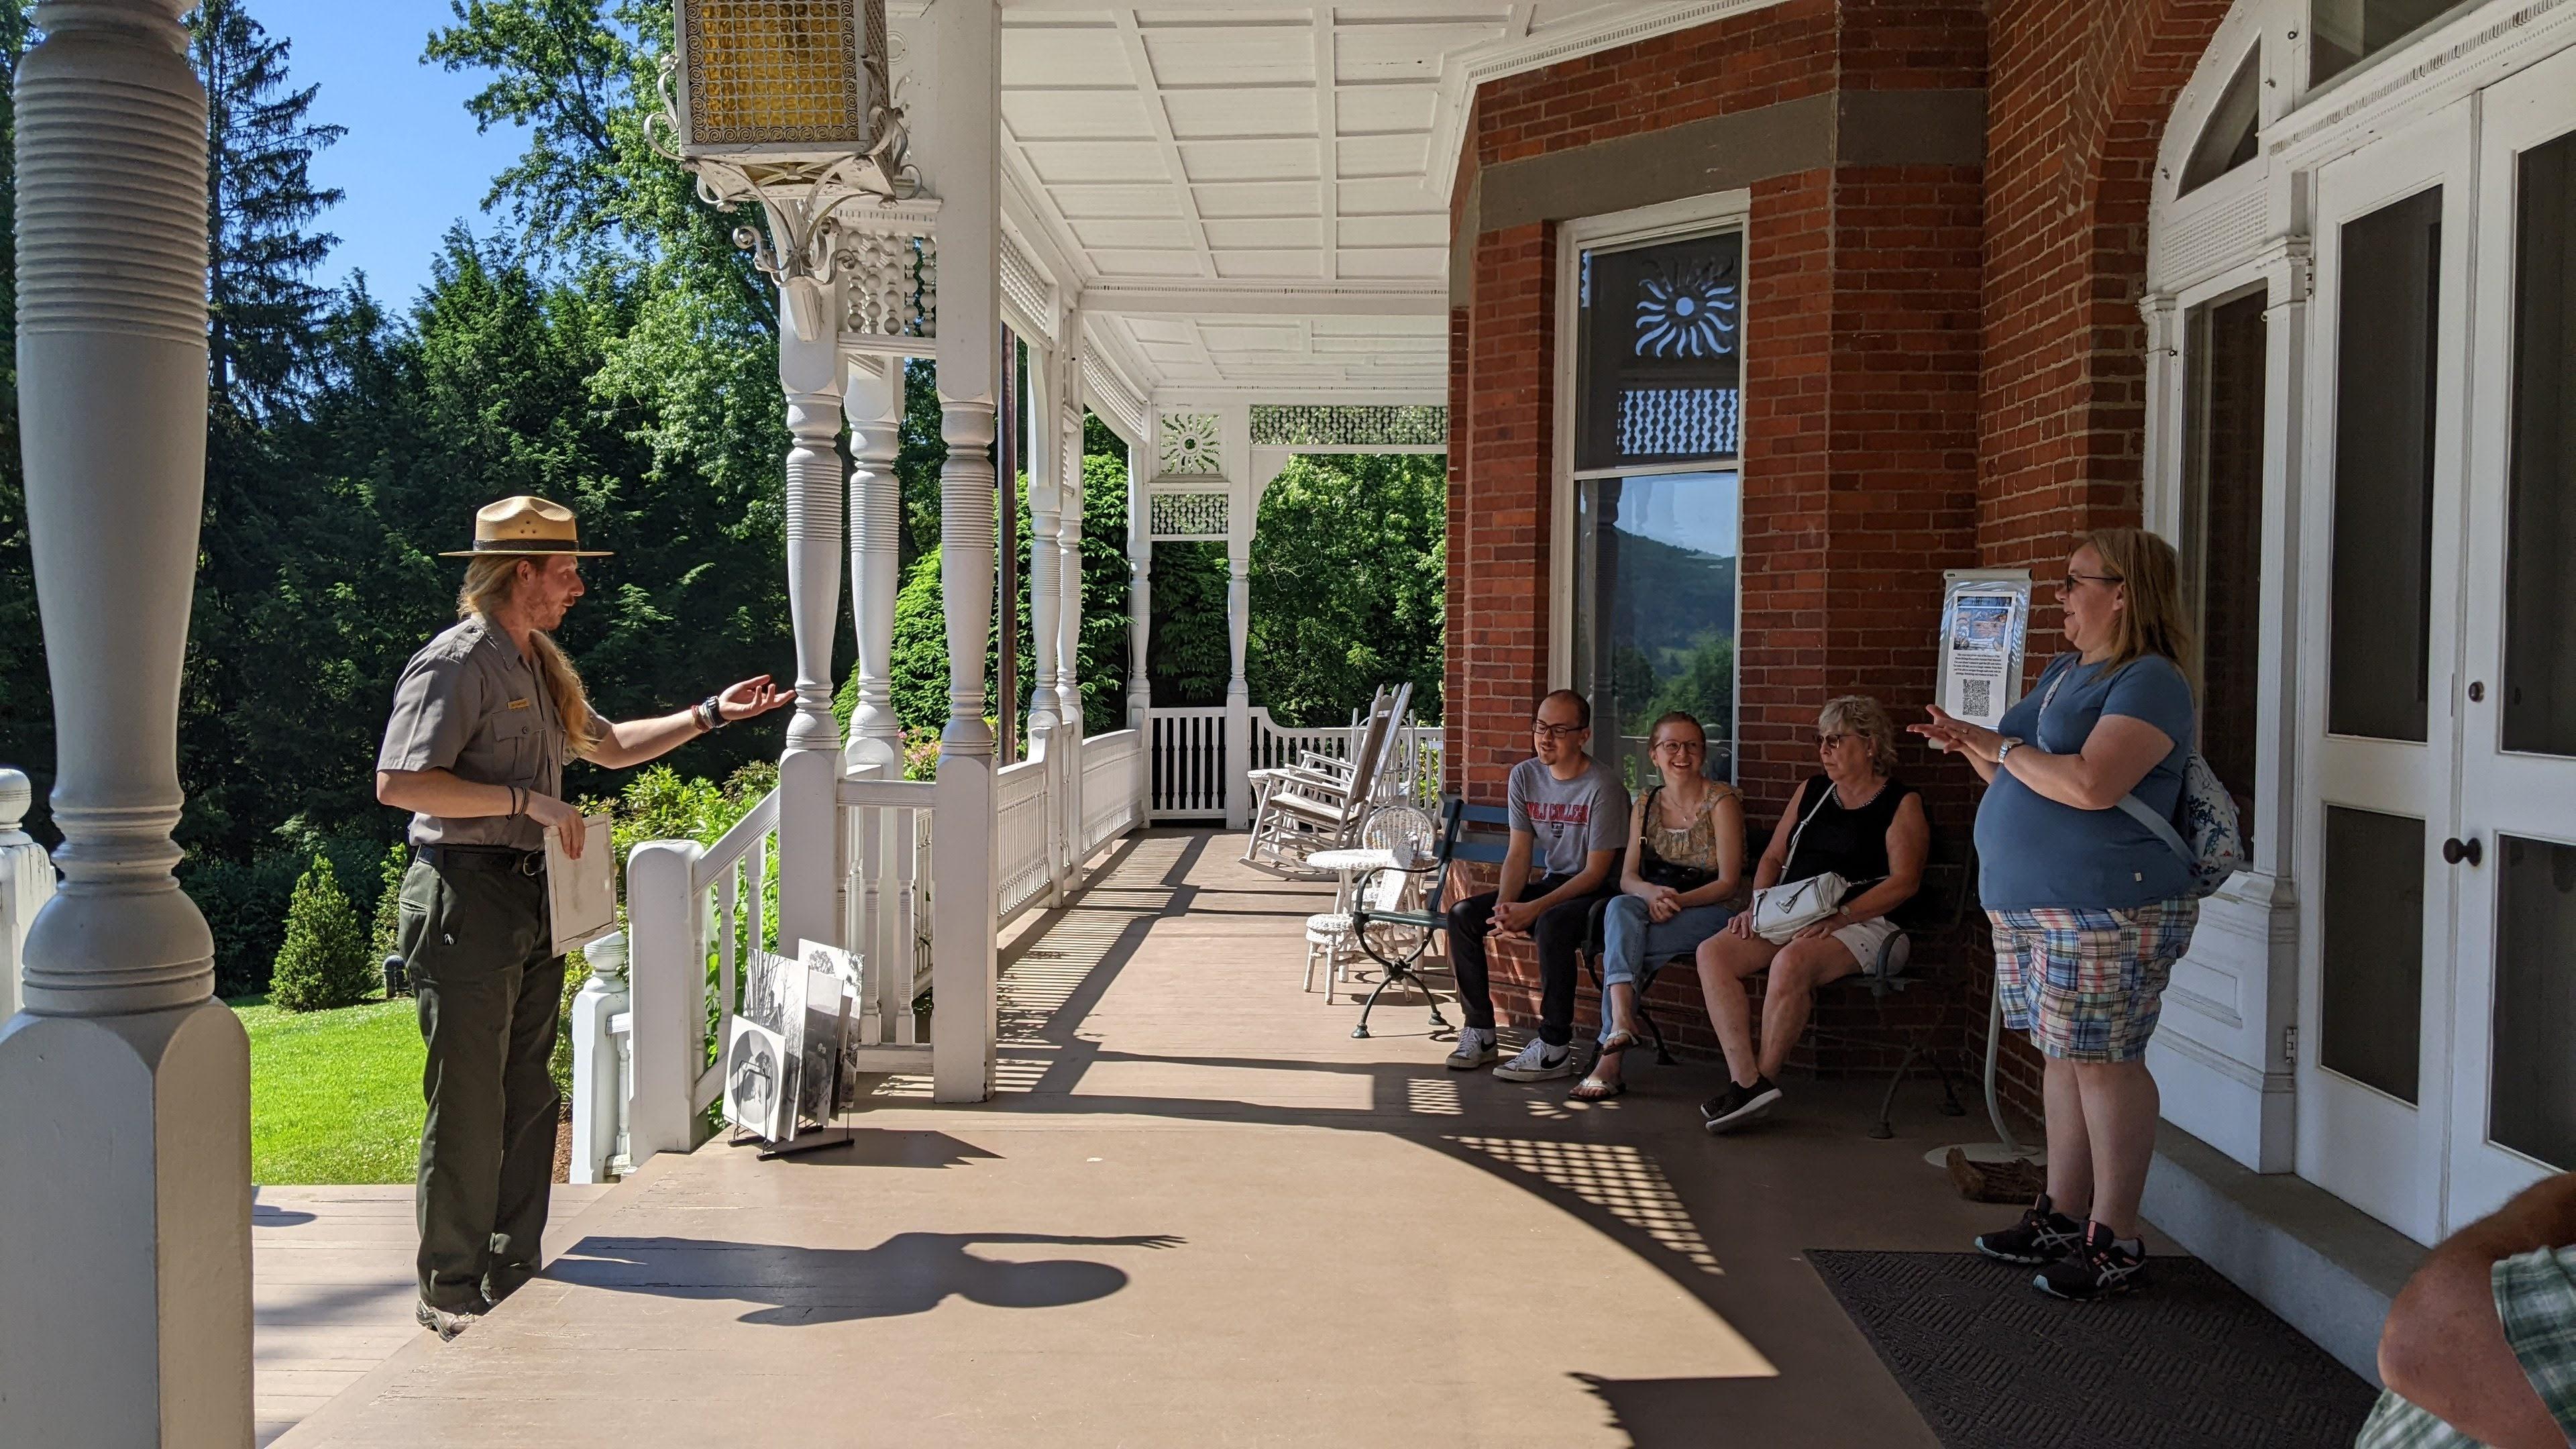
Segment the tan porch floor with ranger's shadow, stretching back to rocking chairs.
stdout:
<svg viewBox="0 0 2576 1449">
<path fill-rule="evenodd" d="M 1298 990 L 1319 887 L 1115 851 L 1005 949 L 997 1101 L 894 1078 L 850 1150 L 657 1158 L 281 1444 L 1932 1449 L 1803 1253 L 1965 1248 L 1999 1212 L 1922 1152 L 1976 1119 L 1917 1085 L 1870 1142 L 1865 1083 L 1793 1083 L 1708 1140 L 1705 1067 L 1453 1075 L 1419 1006 L 1355 1042 Z"/>
</svg>

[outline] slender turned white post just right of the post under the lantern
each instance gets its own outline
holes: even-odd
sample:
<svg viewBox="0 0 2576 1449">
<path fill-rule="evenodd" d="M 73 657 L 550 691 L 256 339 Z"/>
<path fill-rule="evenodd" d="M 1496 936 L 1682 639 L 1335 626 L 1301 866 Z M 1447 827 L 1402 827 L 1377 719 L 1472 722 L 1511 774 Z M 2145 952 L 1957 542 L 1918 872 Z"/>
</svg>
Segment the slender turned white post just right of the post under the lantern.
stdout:
<svg viewBox="0 0 2576 1449">
<path fill-rule="evenodd" d="M 904 724 L 894 717 L 894 596 L 902 588 L 904 487 L 894 477 L 902 449 L 904 358 L 850 366 L 842 392 L 850 418 L 850 614 L 858 624 L 858 709 L 842 766 L 904 776 Z"/>
</svg>

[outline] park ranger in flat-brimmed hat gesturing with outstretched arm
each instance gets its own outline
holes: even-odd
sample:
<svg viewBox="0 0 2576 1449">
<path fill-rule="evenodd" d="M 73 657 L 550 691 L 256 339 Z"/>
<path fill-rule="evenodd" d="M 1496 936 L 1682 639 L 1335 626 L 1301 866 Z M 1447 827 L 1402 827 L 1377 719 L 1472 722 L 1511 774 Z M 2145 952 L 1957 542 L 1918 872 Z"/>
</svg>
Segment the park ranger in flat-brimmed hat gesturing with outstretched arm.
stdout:
<svg viewBox="0 0 2576 1449">
<path fill-rule="evenodd" d="M 554 629 L 582 596 L 572 511 L 502 498 L 474 513 L 459 624 L 402 670 L 376 799 L 412 812 L 399 949 L 420 998 L 420 1325 L 456 1338 L 536 1276 L 554 1181 L 546 1070 L 564 995 L 546 910 L 546 830 L 582 853 L 564 766 L 639 766 L 791 696 L 747 678 L 659 719 L 590 712 Z"/>
</svg>

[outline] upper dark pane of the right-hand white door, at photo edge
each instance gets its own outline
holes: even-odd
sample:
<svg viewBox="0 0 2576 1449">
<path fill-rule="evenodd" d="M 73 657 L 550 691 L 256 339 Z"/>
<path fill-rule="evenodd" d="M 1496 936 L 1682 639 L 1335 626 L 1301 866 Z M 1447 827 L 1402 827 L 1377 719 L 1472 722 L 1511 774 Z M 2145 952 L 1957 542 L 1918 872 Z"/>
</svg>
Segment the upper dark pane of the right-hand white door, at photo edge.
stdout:
<svg viewBox="0 0 2576 1449">
<path fill-rule="evenodd" d="M 2576 755 L 2576 134 L 2519 168 L 2504 748 Z"/>
</svg>

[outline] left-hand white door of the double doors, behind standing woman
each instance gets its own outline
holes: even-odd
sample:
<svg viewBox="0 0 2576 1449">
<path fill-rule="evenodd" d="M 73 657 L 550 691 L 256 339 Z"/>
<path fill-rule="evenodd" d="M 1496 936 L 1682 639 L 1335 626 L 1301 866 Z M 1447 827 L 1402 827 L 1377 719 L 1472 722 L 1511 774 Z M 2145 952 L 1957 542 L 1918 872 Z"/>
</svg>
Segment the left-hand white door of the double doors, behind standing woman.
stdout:
<svg viewBox="0 0 2576 1449">
<path fill-rule="evenodd" d="M 2470 103 L 2316 180 L 2298 1171 L 2432 1240 L 2450 1122 Z"/>
</svg>

